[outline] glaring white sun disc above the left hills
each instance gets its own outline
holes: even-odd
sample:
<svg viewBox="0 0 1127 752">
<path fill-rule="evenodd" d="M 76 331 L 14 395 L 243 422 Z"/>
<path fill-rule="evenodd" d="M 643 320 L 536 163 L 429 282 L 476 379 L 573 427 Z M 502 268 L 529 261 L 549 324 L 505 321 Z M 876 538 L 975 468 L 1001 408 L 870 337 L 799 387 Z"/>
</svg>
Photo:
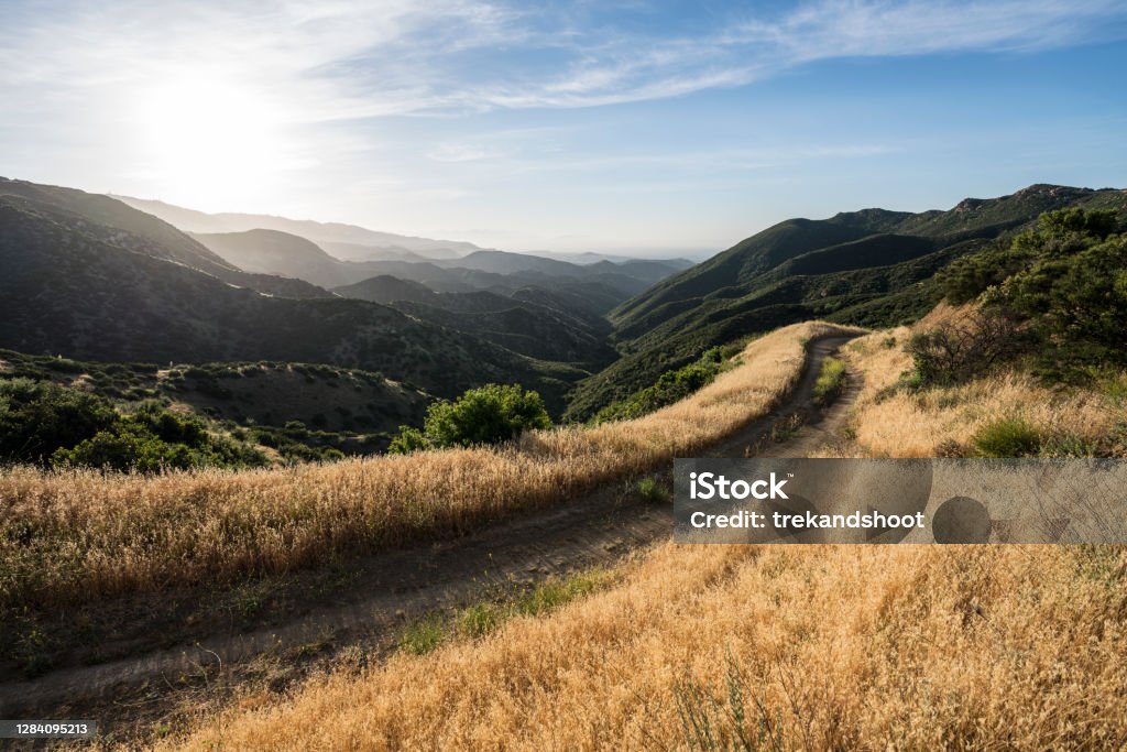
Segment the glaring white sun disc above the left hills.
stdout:
<svg viewBox="0 0 1127 752">
<path fill-rule="evenodd" d="M 187 76 L 145 92 L 137 106 L 143 171 L 168 196 L 243 203 L 269 185 L 282 160 L 278 117 L 249 89 Z"/>
</svg>

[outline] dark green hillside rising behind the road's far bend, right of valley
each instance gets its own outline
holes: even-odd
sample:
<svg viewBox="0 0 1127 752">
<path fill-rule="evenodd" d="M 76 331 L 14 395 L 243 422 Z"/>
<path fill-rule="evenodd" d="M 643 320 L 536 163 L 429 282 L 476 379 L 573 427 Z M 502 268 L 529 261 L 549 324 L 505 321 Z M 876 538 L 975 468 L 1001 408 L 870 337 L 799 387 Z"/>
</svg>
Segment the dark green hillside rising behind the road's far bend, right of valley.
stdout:
<svg viewBox="0 0 1127 752">
<path fill-rule="evenodd" d="M 1127 211 L 1127 193 L 1035 185 L 946 212 L 864 210 L 781 222 L 611 311 L 622 357 L 577 387 L 568 416 L 585 419 L 716 343 L 792 321 L 913 321 L 942 297 L 932 280 L 939 269 L 1066 206 Z"/>
</svg>

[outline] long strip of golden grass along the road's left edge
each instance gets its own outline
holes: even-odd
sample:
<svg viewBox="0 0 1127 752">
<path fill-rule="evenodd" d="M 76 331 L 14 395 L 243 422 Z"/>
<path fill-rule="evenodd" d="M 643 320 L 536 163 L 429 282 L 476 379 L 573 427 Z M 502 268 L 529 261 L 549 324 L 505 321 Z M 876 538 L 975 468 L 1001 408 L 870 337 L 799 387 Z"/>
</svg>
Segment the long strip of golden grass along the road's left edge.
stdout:
<svg viewBox="0 0 1127 752">
<path fill-rule="evenodd" d="M 808 322 L 646 417 L 529 434 L 520 446 L 258 471 L 0 474 L 0 605 L 76 601 L 283 572 L 354 547 L 450 534 L 564 503 L 691 455 L 765 413 L 798 378 Z"/>
</svg>

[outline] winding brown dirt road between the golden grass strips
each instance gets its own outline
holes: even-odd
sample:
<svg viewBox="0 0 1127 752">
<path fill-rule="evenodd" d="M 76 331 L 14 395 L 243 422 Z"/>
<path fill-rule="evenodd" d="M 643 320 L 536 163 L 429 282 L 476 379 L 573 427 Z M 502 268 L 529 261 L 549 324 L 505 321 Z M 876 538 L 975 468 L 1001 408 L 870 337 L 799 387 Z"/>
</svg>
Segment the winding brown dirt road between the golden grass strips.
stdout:
<svg viewBox="0 0 1127 752">
<path fill-rule="evenodd" d="M 844 393 L 824 412 L 811 397 L 822 362 L 850 338 L 811 342 L 791 395 L 706 454 L 804 457 L 841 443 L 837 434 L 859 379 L 850 374 Z M 0 678 L 0 717 L 100 716 L 122 718 L 123 728 L 151 724 L 201 684 L 237 685 L 247 665 L 263 655 L 301 656 L 316 666 L 328 665 L 349 646 L 379 653 L 408 619 L 549 576 L 613 566 L 672 531 L 671 504 L 648 502 L 633 486 L 618 485 L 458 540 L 352 558 L 329 574 L 299 573 L 269 583 L 267 590 L 277 585 L 281 595 L 255 600 L 252 609 L 243 609 L 254 611 L 249 619 L 236 617 L 239 601 L 223 604 L 225 611 L 207 601 L 195 610 L 166 605 L 190 601 L 190 594 L 98 604 L 92 608 L 116 609 L 110 617 L 116 622 L 97 637 L 97 651 L 77 646 L 34 680 Z"/>
</svg>

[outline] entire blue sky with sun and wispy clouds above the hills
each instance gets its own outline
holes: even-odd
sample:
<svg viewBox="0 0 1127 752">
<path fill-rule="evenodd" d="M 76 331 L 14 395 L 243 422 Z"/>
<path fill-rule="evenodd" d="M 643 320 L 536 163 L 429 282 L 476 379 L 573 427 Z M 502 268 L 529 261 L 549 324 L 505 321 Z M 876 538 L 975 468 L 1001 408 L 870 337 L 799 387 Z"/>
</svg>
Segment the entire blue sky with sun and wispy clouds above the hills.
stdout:
<svg viewBox="0 0 1127 752">
<path fill-rule="evenodd" d="M 514 249 L 1127 187 L 1127 6 L 10 2 L 0 175 Z"/>
</svg>

